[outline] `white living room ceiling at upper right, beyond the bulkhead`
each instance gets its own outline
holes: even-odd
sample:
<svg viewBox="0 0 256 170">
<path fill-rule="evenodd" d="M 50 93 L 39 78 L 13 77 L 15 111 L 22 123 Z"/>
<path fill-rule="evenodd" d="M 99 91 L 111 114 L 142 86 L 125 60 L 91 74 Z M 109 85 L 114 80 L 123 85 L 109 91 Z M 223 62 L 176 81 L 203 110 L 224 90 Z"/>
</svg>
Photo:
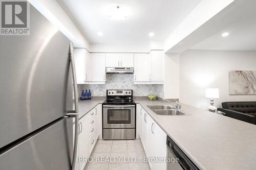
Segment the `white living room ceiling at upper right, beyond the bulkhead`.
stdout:
<svg viewBox="0 0 256 170">
<path fill-rule="evenodd" d="M 229 25 L 191 47 L 197 50 L 256 51 L 256 1 L 246 0 L 223 15 Z M 218 23 L 216 23 L 218 24 Z M 229 36 L 222 37 L 228 32 Z"/>
</svg>

